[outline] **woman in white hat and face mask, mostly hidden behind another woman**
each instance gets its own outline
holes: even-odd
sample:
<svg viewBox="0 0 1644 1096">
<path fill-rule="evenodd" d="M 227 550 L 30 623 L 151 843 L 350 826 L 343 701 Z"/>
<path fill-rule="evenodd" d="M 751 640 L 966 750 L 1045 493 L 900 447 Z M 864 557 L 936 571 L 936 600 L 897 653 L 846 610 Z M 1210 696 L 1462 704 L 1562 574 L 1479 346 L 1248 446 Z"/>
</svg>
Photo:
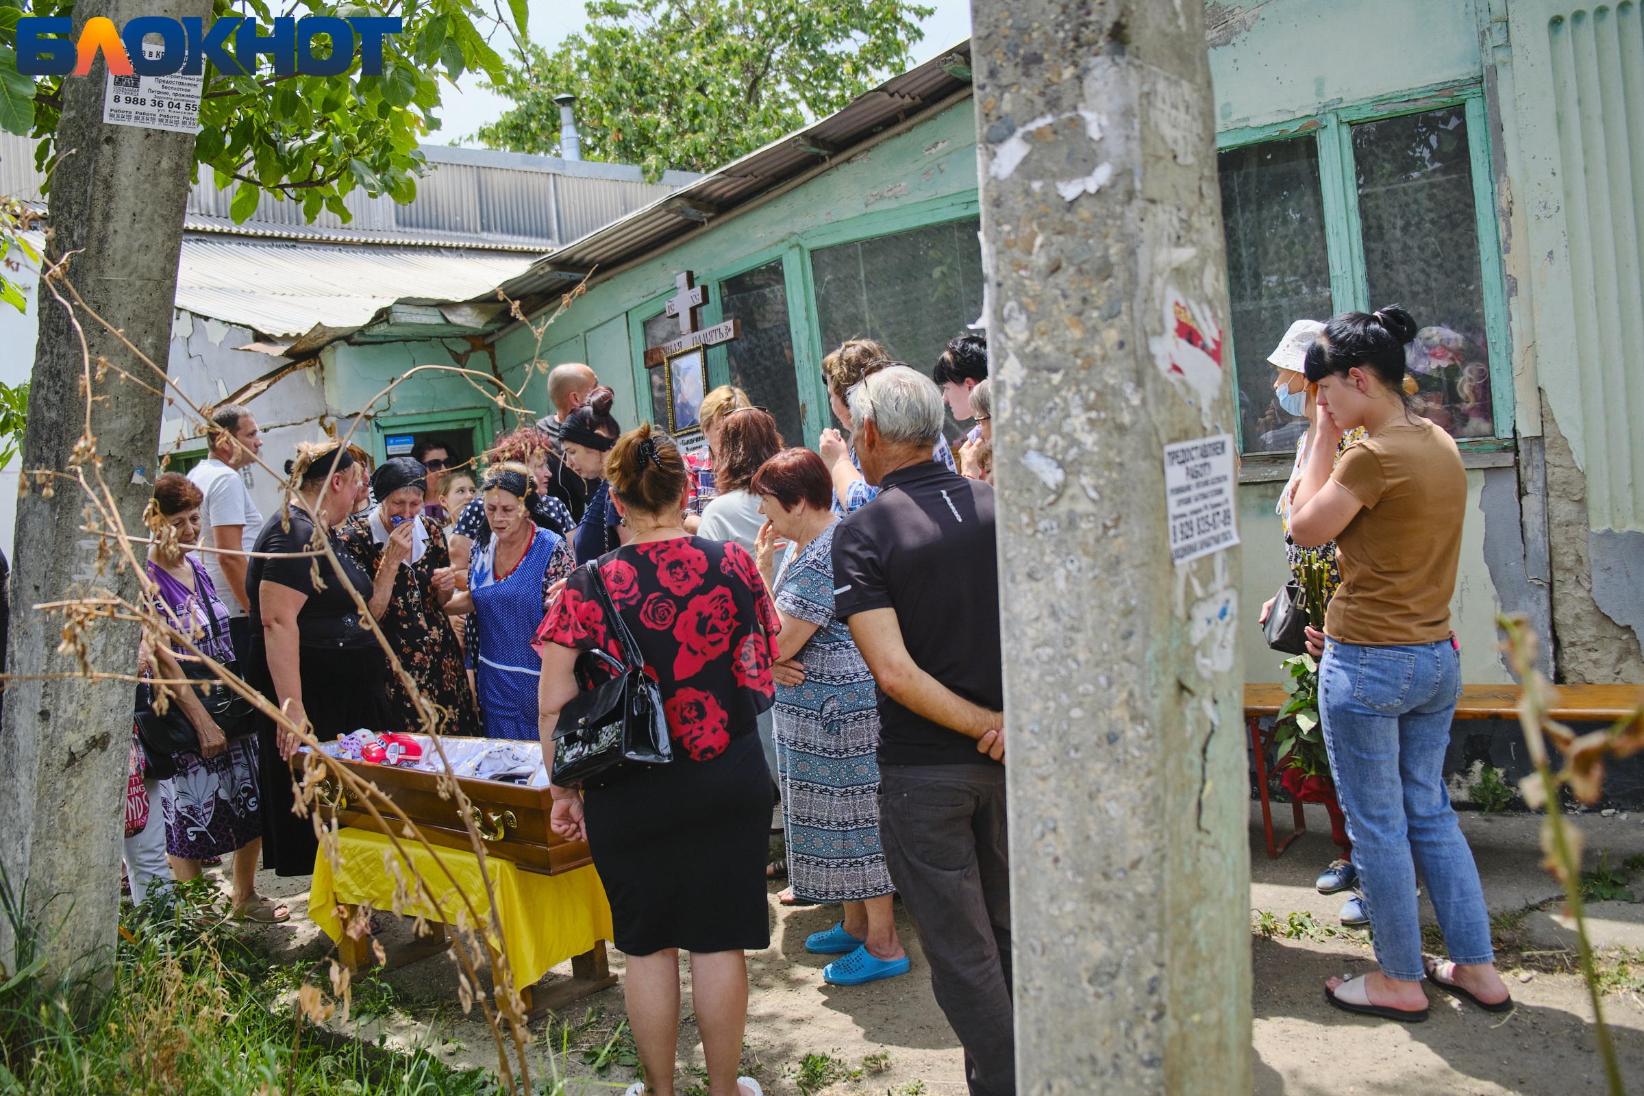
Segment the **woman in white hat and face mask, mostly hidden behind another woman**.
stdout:
<svg viewBox="0 0 1644 1096">
<path fill-rule="evenodd" d="M 1323 562 L 1330 567 L 1330 578 L 1325 583 L 1327 592 L 1335 592 L 1337 585 L 1342 582 L 1342 575 L 1337 570 L 1335 559 L 1335 542 L 1322 544 L 1318 547 L 1299 547 L 1291 541 L 1291 503 L 1295 498 L 1295 485 L 1300 483 L 1302 472 L 1307 468 L 1307 455 L 1312 452 L 1314 440 L 1318 437 L 1318 412 L 1314 404 L 1314 394 L 1317 393 L 1317 385 L 1309 383 L 1307 376 L 1302 373 L 1302 366 L 1307 358 L 1307 347 L 1310 347 L 1318 335 L 1322 335 L 1325 325 L 1318 320 L 1295 320 L 1291 329 L 1284 332 L 1284 338 L 1279 345 L 1268 355 L 1268 363 L 1272 365 L 1279 375 L 1272 383 L 1272 394 L 1279 404 L 1279 409 L 1286 414 L 1304 419 L 1309 427 L 1295 442 L 1295 465 L 1291 468 L 1291 480 L 1284 485 L 1284 491 L 1279 493 L 1279 521 L 1284 524 L 1284 555 L 1286 562 L 1291 565 L 1291 577 L 1295 582 L 1302 580 L 1302 565 L 1307 562 Z M 1343 439 L 1342 445 L 1337 449 L 1337 460 L 1342 458 L 1342 450 L 1345 450 L 1353 442 L 1365 437 L 1363 429 L 1350 431 Z M 1261 619 L 1268 619 L 1268 613 L 1272 610 L 1272 601 L 1261 606 Z M 1335 805 L 1330 804 L 1333 808 Z M 1318 894 L 1338 894 L 1342 891 L 1351 889 L 1358 882 L 1358 871 L 1353 868 L 1351 861 L 1351 845 L 1346 843 L 1346 831 L 1337 822 L 1340 817 L 1338 810 L 1332 810 L 1332 830 L 1337 830 L 1337 843 L 1342 846 L 1342 858 L 1330 863 L 1323 874 L 1318 876 L 1317 887 Z M 1350 927 L 1368 925 L 1369 917 L 1365 912 L 1365 904 L 1360 900 L 1358 892 L 1348 896 L 1346 904 L 1342 907 L 1342 923 Z"/>
</svg>

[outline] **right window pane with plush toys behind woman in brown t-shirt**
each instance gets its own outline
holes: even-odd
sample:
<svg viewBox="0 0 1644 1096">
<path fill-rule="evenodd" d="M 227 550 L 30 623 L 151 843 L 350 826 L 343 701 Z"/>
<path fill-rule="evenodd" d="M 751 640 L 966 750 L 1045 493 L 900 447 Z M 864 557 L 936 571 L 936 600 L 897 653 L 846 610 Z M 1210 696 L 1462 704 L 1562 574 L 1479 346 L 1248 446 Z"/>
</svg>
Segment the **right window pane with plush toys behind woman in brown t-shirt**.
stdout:
<svg viewBox="0 0 1644 1096">
<path fill-rule="evenodd" d="M 1455 437 L 1494 434 L 1466 113 L 1445 107 L 1353 127 L 1371 306 L 1402 304 L 1422 414 Z"/>
</svg>

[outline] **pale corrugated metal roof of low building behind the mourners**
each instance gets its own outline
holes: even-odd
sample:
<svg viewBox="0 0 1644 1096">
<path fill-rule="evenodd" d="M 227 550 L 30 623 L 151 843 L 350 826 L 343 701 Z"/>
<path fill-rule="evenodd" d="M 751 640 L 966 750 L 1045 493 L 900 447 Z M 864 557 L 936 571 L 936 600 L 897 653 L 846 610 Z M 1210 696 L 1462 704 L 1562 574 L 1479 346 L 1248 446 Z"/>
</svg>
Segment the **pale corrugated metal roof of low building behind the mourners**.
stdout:
<svg viewBox="0 0 1644 1096">
<path fill-rule="evenodd" d="M 316 324 L 358 327 L 403 297 L 478 297 L 528 265 L 523 256 L 457 248 L 184 238 L 176 302 L 293 337 Z"/>
</svg>

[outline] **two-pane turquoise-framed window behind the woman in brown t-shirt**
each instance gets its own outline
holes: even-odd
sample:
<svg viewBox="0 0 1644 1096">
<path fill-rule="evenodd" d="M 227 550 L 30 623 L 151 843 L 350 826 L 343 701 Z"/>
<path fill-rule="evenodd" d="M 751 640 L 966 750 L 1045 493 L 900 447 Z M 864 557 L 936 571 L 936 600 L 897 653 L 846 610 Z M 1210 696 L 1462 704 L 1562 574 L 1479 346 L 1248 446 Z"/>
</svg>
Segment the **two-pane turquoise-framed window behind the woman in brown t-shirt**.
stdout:
<svg viewBox="0 0 1644 1096">
<path fill-rule="evenodd" d="M 1417 409 L 1458 439 L 1496 434 L 1488 301 L 1499 256 L 1493 232 L 1481 248 L 1480 153 L 1465 104 L 1332 113 L 1307 136 L 1221 151 L 1246 454 L 1289 452 L 1305 429 L 1272 394 L 1268 353 L 1286 327 L 1383 304 L 1402 304 L 1420 329 L 1406 355 Z"/>
</svg>

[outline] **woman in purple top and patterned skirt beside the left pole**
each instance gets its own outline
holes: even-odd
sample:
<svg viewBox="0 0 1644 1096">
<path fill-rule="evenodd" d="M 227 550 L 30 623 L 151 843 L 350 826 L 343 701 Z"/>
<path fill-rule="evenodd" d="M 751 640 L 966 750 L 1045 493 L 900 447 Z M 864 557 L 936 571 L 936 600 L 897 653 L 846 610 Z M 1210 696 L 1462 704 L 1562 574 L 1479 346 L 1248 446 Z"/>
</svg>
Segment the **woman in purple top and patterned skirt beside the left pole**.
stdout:
<svg viewBox="0 0 1644 1096">
<path fill-rule="evenodd" d="M 174 629 L 192 636 L 206 656 L 233 669 L 233 646 L 229 639 L 229 610 L 217 598 L 210 577 L 189 549 L 201 534 L 201 490 L 187 477 L 168 472 L 155 481 L 155 508 L 166 526 L 176 531 L 176 542 L 156 537 L 148 549 L 148 577 L 156 585 L 155 608 Z M 163 644 L 145 638 L 153 647 L 158 677 L 179 679 L 181 644 Z M 148 690 L 145 690 L 148 692 Z M 256 736 L 225 739 L 199 693 L 192 688 L 168 690 L 199 736 L 194 749 L 171 754 L 176 776 L 159 782 L 159 804 L 166 815 L 166 856 L 171 874 L 196 879 L 201 859 L 233 853 L 233 915 L 238 920 L 283 922 L 284 905 L 256 894 L 256 858 L 263 851 L 263 823 L 258 813 Z"/>
</svg>

